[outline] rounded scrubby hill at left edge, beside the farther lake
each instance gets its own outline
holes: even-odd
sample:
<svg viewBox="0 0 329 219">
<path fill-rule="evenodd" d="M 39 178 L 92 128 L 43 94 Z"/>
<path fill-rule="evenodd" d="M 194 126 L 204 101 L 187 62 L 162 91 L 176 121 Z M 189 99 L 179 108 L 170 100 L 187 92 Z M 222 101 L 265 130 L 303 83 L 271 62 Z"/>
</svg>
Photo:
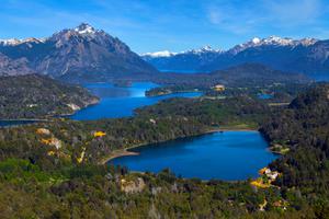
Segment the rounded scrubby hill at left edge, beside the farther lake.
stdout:
<svg viewBox="0 0 329 219">
<path fill-rule="evenodd" d="M 0 119 L 71 114 L 97 102 L 87 90 L 47 77 L 0 77 Z"/>
</svg>

